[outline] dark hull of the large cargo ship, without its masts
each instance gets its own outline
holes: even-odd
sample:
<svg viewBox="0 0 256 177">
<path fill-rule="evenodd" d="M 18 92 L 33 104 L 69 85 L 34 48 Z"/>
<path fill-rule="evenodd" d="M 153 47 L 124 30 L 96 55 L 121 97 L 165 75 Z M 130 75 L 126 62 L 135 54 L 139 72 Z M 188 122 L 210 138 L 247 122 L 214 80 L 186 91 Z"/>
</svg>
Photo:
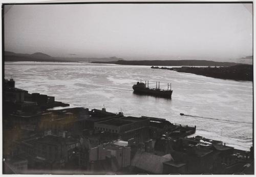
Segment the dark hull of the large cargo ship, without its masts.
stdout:
<svg viewBox="0 0 256 177">
<path fill-rule="evenodd" d="M 157 89 L 150 89 L 150 88 L 136 88 L 133 87 L 133 90 L 137 94 L 146 94 L 146 95 L 153 95 L 158 97 L 164 98 L 172 98 L 173 90 L 157 90 Z"/>
</svg>

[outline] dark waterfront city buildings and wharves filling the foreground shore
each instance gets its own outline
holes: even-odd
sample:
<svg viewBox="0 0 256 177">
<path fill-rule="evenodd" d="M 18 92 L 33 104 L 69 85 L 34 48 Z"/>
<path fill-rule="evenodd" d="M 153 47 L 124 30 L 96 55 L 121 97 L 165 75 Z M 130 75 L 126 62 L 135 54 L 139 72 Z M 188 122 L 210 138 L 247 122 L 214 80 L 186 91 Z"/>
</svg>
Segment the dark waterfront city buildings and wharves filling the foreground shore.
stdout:
<svg viewBox="0 0 256 177">
<path fill-rule="evenodd" d="M 16 104 L 31 102 L 28 91 L 12 81 L 4 86 L 5 174 L 254 173 L 253 147 L 243 151 L 201 136 L 188 138 L 196 126 L 105 108 L 47 110 L 46 99 L 25 109 Z"/>
</svg>

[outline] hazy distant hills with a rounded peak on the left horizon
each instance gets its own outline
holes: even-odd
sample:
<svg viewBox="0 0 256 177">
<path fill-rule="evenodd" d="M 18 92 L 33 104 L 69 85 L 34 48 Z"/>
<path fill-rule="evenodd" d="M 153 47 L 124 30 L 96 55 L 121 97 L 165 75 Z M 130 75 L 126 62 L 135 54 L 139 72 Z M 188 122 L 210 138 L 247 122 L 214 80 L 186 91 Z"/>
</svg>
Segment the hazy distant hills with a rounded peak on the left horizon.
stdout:
<svg viewBox="0 0 256 177">
<path fill-rule="evenodd" d="M 102 62 L 102 61 L 118 61 L 123 60 L 122 58 L 110 57 L 110 58 L 79 58 L 79 57 L 52 57 L 44 53 L 34 54 L 17 54 L 9 51 L 5 51 L 5 61 L 39 61 L 39 62 Z"/>
</svg>

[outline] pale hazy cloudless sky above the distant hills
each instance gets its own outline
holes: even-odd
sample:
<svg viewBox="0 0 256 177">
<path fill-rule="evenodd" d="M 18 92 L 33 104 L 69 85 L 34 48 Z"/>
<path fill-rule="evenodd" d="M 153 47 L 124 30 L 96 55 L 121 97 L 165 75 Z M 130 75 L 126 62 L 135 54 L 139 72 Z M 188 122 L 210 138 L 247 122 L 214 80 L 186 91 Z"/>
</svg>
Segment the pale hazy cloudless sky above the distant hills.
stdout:
<svg viewBox="0 0 256 177">
<path fill-rule="evenodd" d="M 15 53 L 215 61 L 252 55 L 252 4 L 14 5 L 5 6 L 4 20 L 5 50 Z"/>
</svg>

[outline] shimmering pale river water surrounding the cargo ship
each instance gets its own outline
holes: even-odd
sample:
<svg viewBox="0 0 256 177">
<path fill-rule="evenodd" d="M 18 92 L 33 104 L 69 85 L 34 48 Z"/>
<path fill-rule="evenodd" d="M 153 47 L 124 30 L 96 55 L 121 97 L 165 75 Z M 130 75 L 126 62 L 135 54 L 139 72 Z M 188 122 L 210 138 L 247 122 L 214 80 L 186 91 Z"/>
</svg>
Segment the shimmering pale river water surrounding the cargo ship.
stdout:
<svg viewBox="0 0 256 177">
<path fill-rule="evenodd" d="M 172 70 L 91 63 L 8 62 L 5 78 L 16 87 L 55 96 L 70 107 L 122 112 L 125 116 L 165 118 L 173 123 L 197 125 L 196 135 L 221 140 L 249 150 L 252 145 L 252 82 L 204 77 Z M 149 81 L 150 87 L 167 89 L 172 99 L 137 95 L 132 86 Z M 180 116 L 184 113 L 190 116 Z"/>
</svg>

